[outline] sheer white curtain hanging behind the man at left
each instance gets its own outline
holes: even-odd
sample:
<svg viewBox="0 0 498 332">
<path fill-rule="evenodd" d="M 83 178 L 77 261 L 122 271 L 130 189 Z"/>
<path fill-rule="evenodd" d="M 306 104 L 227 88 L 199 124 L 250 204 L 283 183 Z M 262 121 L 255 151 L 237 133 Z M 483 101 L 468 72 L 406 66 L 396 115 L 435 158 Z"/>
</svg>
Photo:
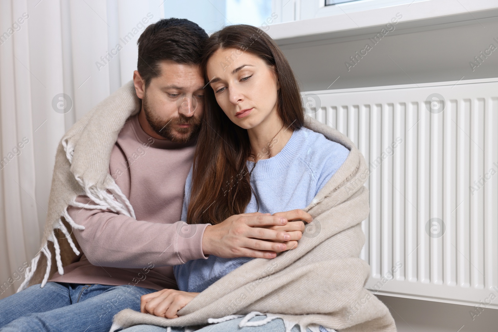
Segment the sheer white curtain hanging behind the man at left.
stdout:
<svg viewBox="0 0 498 332">
<path fill-rule="evenodd" d="M 0 0 L 0 298 L 38 251 L 59 140 L 132 78 L 164 2 Z"/>
</svg>

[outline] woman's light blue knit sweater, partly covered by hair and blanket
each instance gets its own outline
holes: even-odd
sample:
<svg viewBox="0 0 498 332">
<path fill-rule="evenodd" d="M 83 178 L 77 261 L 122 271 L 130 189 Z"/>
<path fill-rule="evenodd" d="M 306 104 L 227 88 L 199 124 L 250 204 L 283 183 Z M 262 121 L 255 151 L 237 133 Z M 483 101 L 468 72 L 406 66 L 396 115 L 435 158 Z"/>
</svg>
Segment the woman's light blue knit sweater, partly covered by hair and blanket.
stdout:
<svg viewBox="0 0 498 332">
<path fill-rule="evenodd" d="M 271 213 L 304 209 L 318 191 L 341 167 L 349 150 L 327 139 L 323 134 L 302 127 L 294 130 L 284 148 L 275 156 L 248 161 L 253 171 L 250 183 L 258 198 L 252 194 L 246 213 Z M 255 166 L 254 166 L 255 165 Z M 187 220 L 190 201 L 192 169 L 185 183 L 182 220 Z M 207 259 L 194 259 L 173 267 L 178 289 L 185 292 L 202 292 L 218 279 L 251 257 L 221 258 L 209 255 Z"/>
</svg>

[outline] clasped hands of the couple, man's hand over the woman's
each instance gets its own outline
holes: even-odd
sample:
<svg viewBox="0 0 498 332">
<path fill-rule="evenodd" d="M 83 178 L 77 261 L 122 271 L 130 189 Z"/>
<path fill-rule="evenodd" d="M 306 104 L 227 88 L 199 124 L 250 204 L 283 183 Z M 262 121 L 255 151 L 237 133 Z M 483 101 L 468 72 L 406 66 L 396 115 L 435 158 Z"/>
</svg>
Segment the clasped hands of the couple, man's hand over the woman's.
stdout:
<svg viewBox="0 0 498 332">
<path fill-rule="evenodd" d="M 273 216 L 257 212 L 235 215 L 206 227 L 202 249 L 206 255 L 223 258 L 274 258 L 277 252 L 295 248 L 304 230 L 303 221 L 312 220 L 302 210 L 279 212 Z"/>
</svg>

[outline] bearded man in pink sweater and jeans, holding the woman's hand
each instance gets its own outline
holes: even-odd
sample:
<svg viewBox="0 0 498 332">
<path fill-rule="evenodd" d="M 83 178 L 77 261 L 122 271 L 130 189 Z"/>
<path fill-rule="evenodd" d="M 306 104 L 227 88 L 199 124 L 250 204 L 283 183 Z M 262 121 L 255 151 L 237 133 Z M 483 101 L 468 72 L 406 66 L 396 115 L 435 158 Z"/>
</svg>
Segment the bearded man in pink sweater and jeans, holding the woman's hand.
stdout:
<svg viewBox="0 0 498 332">
<path fill-rule="evenodd" d="M 73 229 L 83 255 L 43 288 L 1 300 L 2 332 L 107 332 L 119 311 L 140 311 L 141 296 L 177 288 L 173 265 L 209 254 L 273 258 L 295 246 L 304 223 L 290 220 L 311 221 L 302 211 L 232 216 L 216 225 L 179 221 L 203 112 L 198 63 L 207 37 L 197 24 L 176 18 L 142 33 L 133 73 L 141 110 L 121 129 L 109 164 L 136 218 L 79 196 L 84 208 L 70 206 L 68 214 L 84 226 Z"/>
</svg>

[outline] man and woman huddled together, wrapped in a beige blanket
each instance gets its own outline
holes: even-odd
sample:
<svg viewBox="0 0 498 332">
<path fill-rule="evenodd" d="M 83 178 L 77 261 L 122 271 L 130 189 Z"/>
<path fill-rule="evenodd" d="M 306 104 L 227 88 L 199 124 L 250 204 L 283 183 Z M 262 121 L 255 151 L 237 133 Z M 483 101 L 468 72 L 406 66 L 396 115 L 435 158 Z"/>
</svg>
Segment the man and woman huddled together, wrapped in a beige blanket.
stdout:
<svg viewBox="0 0 498 332">
<path fill-rule="evenodd" d="M 358 258 L 365 174 L 266 33 L 161 19 L 62 138 L 0 331 L 395 331 Z"/>
</svg>

